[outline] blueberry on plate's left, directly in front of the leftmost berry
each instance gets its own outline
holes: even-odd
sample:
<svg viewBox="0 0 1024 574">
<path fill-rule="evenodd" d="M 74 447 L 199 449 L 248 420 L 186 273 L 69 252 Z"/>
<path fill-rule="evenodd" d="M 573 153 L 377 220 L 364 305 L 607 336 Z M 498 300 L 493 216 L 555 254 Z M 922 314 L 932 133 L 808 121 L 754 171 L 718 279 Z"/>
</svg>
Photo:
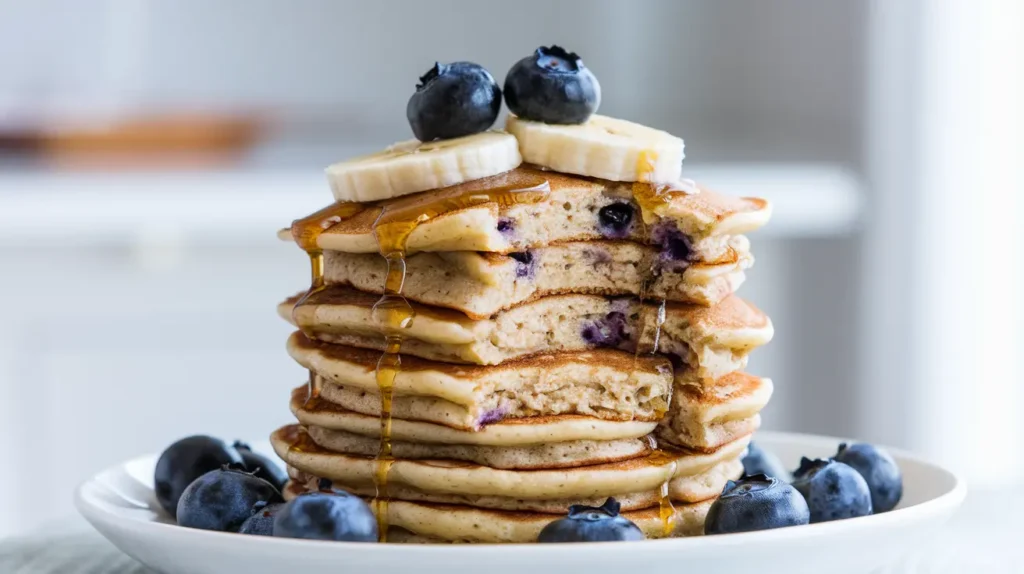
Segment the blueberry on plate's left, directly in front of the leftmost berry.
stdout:
<svg viewBox="0 0 1024 574">
<path fill-rule="evenodd" d="M 241 465 L 225 466 L 188 485 L 178 500 L 178 526 L 238 532 L 254 509 L 282 501 L 272 484 L 245 472 Z"/>
</svg>

